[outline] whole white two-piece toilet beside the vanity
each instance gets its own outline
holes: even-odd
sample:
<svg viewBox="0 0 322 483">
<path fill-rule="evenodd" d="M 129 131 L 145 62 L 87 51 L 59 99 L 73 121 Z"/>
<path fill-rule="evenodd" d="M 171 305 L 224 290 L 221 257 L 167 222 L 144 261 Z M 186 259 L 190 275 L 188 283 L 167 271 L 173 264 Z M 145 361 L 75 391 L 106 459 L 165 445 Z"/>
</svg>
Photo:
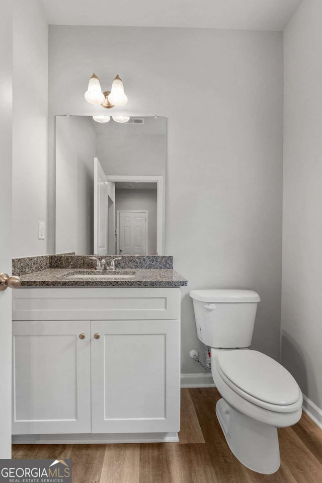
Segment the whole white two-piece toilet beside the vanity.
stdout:
<svg viewBox="0 0 322 483">
<path fill-rule="evenodd" d="M 248 468 L 270 474 L 280 466 L 277 428 L 302 414 L 293 376 L 252 343 L 257 303 L 252 290 L 190 292 L 198 338 L 211 347 L 211 371 L 222 396 L 216 414 L 229 448 Z"/>
</svg>

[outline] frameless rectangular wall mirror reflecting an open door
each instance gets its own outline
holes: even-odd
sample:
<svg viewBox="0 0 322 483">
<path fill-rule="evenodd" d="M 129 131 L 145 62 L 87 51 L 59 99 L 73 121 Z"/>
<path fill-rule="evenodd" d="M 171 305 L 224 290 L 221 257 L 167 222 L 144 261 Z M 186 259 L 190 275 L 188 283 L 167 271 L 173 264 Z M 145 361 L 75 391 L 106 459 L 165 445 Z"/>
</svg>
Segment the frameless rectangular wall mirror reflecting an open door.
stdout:
<svg viewBox="0 0 322 483">
<path fill-rule="evenodd" d="M 56 116 L 57 254 L 164 255 L 166 131 Z"/>
</svg>

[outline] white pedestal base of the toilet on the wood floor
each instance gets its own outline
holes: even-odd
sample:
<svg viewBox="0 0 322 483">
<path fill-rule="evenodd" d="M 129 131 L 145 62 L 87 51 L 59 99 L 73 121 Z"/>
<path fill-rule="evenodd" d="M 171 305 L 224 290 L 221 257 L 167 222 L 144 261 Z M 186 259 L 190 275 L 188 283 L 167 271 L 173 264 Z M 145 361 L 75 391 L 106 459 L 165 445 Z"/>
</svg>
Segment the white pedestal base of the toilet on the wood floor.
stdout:
<svg viewBox="0 0 322 483">
<path fill-rule="evenodd" d="M 216 415 L 231 452 L 241 463 L 263 474 L 278 470 L 277 428 L 238 413 L 222 398 L 216 404 Z"/>
</svg>

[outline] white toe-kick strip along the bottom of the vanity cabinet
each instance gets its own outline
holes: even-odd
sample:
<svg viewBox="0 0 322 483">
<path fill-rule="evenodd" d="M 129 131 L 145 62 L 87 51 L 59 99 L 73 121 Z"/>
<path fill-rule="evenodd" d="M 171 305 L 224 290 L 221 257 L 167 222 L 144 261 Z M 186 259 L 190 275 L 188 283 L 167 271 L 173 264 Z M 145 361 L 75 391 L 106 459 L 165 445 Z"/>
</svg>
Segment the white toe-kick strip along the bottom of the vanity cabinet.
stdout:
<svg viewBox="0 0 322 483">
<path fill-rule="evenodd" d="M 114 444 L 178 442 L 178 433 L 14 434 L 13 444 Z"/>
</svg>

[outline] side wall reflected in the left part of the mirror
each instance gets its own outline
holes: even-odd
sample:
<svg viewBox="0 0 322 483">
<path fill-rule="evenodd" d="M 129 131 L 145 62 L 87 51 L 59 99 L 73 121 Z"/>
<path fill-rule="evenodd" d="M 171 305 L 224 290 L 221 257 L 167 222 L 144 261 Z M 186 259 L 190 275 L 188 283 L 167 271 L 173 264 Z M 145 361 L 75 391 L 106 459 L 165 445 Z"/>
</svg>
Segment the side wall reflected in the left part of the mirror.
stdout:
<svg viewBox="0 0 322 483">
<path fill-rule="evenodd" d="M 56 117 L 56 253 L 93 254 L 94 157 L 92 118 Z"/>
</svg>

